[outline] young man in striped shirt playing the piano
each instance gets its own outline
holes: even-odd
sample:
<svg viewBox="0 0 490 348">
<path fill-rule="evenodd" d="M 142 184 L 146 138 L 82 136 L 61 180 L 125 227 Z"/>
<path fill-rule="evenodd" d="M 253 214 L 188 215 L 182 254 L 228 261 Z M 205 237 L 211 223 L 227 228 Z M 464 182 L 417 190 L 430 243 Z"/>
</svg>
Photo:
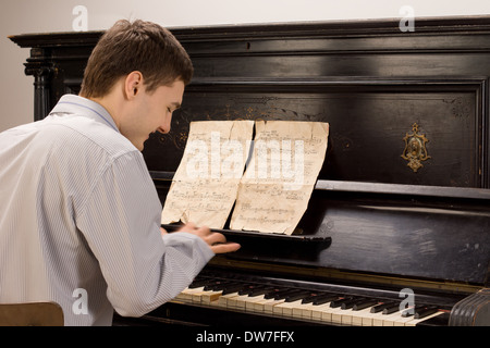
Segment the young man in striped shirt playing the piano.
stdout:
<svg viewBox="0 0 490 348">
<path fill-rule="evenodd" d="M 193 74 L 157 24 L 118 22 L 101 37 L 79 96 L 0 134 L 0 302 L 54 301 L 65 325 L 110 325 L 182 291 L 235 251 L 192 224 L 160 231 L 161 203 L 140 150 L 169 132 Z"/>
</svg>

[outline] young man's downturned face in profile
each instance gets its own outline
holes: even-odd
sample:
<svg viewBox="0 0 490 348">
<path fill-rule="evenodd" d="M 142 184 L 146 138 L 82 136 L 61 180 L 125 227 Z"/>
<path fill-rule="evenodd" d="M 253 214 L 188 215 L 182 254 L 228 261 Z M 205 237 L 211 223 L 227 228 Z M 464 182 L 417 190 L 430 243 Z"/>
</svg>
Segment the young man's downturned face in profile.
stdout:
<svg viewBox="0 0 490 348">
<path fill-rule="evenodd" d="M 143 151 L 144 142 L 155 132 L 170 132 L 172 112 L 182 104 L 184 83 L 175 80 L 170 86 L 160 86 L 151 94 L 143 87 L 138 91 L 135 108 L 131 117 L 121 125 L 121 134 L 139 150 Z"/>
</svg>

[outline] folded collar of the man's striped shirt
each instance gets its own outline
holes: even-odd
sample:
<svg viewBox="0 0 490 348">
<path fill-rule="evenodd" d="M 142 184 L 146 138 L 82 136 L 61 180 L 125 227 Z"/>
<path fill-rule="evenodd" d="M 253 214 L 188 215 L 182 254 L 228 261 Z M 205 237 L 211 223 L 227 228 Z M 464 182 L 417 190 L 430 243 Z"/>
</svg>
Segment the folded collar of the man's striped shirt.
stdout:
<svg viewBox="0 0 490 348">
<path fill-rule="evenodd" d="M 118 126 L 111 114 L 101 104 L 93 100 L 75 95 L 64 95 L 51 110 L 51 113 L 57 112 L 87 115 L 95 121 L 109 125 L 119 133 Z"/>
</svg>

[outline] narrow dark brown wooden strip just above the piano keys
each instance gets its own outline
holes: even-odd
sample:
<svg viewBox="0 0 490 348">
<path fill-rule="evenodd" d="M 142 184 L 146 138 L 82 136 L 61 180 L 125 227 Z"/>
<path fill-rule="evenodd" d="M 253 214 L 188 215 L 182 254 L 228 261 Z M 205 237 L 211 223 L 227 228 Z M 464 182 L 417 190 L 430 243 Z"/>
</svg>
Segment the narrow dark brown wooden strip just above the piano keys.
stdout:
<svg viewBox="0 0 490 348">
<path fill-rule="evenodd" d="M 324 279 L 326 284 L 332 284 L 332 282 L 340 283 L 363 283 L 363 284 L 376 284 L 379 286 L 392 286 L 393 288 L 412 288 L 412 289 L 424 289 L 424 290 L 434 290 L 434 291 L 449 291 L 452 294 L 475 294 L 481 290 L 481 286 L 449 282 L 449 281 L 433 281 L 433 279 L 420 279 L 412 277 L 400 277 L 391 275 L 380 275 L 380 274 L 368 274 L 351 272 L 345 270 L 328 269 L 328 268 L 308 268 L 299 269 L 296 266 L 284 265 L 284 264 L 270 264 L 253 261 L 237 261 L 229 256 L 217 256 L 209 262 L 210 265 L 225 269 L 236 269 L 236 270 L 256 270 L 262 271 L 265 274 L 274 273 L 282 275 L 296 275 L 304 277 L 314 277 L 318 279 Z"/>
</svg>

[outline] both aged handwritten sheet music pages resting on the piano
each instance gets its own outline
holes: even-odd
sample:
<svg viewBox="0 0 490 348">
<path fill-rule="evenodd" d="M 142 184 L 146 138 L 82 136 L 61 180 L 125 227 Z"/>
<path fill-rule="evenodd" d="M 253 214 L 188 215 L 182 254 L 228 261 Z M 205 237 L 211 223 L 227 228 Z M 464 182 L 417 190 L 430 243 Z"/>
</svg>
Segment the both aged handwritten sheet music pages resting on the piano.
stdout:
<svg viewBox="0 0 490 348">
<path fill-rule="evenodd" d="M 223 228 L 232 214 L 232 229 L 292 234 L 321 170 L 328 135 L 329 124 L 319 122 L 192 122 L 162 223 Z"/>
</svg>

